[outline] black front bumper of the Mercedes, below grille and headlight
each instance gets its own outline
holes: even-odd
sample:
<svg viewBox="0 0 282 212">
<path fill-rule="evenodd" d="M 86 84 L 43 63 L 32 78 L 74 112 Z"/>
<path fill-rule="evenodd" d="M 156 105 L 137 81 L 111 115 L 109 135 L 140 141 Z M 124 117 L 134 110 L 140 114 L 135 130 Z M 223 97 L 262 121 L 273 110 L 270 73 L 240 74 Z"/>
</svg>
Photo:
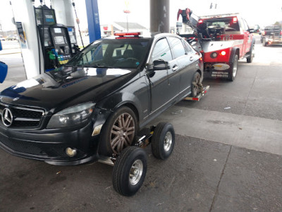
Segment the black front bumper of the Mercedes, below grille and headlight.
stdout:
<svg viewBox="0 0 282 212">
<path fill-rule="evenodd" d="M 93 123 L 71 129 L 15 130 L 0 124 L 0 147 L 22 158 L 43 160 L 53 165 L 78 165 L 98 160 L 98 136 L 92 136 Z M 66 148 L 77 150 L 69 157 Z"/>
</svg>

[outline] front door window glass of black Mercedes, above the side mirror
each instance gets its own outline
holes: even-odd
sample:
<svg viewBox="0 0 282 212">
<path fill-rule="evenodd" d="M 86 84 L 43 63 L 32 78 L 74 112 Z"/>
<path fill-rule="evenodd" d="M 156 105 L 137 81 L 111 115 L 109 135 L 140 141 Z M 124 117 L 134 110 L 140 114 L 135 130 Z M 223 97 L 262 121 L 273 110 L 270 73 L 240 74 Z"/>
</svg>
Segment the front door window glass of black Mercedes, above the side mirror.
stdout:
<svg viewBox="0 0 282 212">
<path fill-rule="evenodd" d="M 158 40 L 152 52 L 152 61 L 163 59 L 164 61 L 171 61 L 172 54 L 166 38 Z"/>
</svg>

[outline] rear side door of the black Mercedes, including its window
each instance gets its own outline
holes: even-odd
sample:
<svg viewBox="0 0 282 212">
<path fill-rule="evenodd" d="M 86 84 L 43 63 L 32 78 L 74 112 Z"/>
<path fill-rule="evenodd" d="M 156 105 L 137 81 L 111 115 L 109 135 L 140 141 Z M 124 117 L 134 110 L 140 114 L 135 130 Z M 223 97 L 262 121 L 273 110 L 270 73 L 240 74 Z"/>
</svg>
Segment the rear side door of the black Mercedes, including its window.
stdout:
<svg viewBox="0 0 282 212">
<path fill-rule="evenodd" d="M 173 57 L 176 59 L 178 64 L 178 75 L 179 77 L 179 95 L 187 95 L 191 89 L 192 77 L 196 71 L 197 59 L 199 57 L 192 51 L 191 47 L 187 43 L 187 47 L 182 40 L 178 37 L 168 37 L 168 41 L 171 45 L 171 51 Z M 195 64 L 195 65 L 193 65 Z"/>
</svg>

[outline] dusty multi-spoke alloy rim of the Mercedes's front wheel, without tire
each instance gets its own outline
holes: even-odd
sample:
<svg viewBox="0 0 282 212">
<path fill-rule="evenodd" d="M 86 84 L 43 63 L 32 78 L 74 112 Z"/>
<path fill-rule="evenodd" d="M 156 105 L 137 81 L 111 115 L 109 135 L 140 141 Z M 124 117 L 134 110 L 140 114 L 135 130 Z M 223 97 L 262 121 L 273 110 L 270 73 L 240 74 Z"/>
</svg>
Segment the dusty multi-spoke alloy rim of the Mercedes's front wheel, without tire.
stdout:
<svg viewBox="0 0 282 212">
<path fill-rule="evenodd" d="M 111 129 L 111 149 L 120 153 L 126 146 L 131 146 L 135 135 L 135 123 L 128 113 L 121 114 Z"/>
</svg>

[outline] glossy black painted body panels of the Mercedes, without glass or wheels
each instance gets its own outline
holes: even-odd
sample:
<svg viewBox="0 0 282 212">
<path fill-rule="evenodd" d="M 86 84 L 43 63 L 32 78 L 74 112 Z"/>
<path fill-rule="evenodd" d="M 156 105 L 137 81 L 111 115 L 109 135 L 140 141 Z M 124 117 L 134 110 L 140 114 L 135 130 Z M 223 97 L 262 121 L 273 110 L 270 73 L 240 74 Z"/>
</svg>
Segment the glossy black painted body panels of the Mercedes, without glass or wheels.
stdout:
<svg viewBox="0 0 282 212">
<path fill-rule="evenodd" d="M 164 37 L 165 35 L 159 39 Z M 190 64 L 183 64 L 189 57 L 193 57 Z M 194 51 L 169 63 L 170 69 L 161 71 L 149 70 L 144 64 L 141 65 L 141 69 L 64 66 L 7 88 L 0 94 L 2 103 L 8 107 L 32 105 L 43 108 L 46 114 L 37 129 L 7 128 L 0 122 L 0 146 L 13 155 L 44 160 L 55 165 L 77 165 L 98 160 L 98 146 L 102 138 L 100 134 L 91 136 L 92 131 L 95 126 L 104 124 L 116 108 L 126 105 L 133 109 L 139 127 L 143 128 L 161 112 L 190 94 L 193 73 L 197 70 L 202 73 L 200 54 Z M 176 66 L 178 69 L 173 71 L 173 67 Z M 187 71 L 192 73 L 185 76 L 184 73 Z M 183 90 L 180 90 L 180 85 L 185 85 L 185 81 L 186 88 L 184 86 Z M 95 102 L 96 105 L 87 122 L 66 129 L 47 129 L 52 114 L 89 101 Z M 4 141 L 11 146 L 4 145 Z M 16 151 L 11 143 L 17 142 L 20 145 L 26 143 L 27 146 L 38 146 L 37 148 L 46 155 Z M 70 158 L 62 151 L 68 146 L 77 148 L 78 156 Z M 60 151 L 61 155 L 56 156 L 57 151 Z"/>
</svg>

